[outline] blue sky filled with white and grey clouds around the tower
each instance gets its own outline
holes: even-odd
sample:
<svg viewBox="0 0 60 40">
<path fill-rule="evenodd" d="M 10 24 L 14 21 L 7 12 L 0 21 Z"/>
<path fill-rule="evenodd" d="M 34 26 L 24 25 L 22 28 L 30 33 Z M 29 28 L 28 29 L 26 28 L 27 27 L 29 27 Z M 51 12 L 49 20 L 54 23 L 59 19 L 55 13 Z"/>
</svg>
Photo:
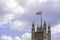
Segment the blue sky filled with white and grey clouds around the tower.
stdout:
<svg viewBox="0 0 60 40">
<path fill-rule="evenodd" d="M 51 25 L 51 39 L 60 40 L 60 0 L 0 0 L 0 40 L 31 40 L 31 25 Z"/>
</svg>

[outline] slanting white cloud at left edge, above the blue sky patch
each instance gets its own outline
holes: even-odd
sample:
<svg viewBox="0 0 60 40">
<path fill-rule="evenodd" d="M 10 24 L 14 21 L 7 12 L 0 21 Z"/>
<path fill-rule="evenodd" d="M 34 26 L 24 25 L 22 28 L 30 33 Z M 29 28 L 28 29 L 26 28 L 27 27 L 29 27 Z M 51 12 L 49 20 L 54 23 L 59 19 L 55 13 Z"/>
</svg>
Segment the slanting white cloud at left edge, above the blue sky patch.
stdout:
<svg viewBox="0 0 60 40">
<path fill-rule="evenodd" d="M 6 14 L 6 15 L 3 15 L 3 16 L 0 16 L 0 26 L 2 24 L 8 23 L 13 18 L 14 18 L 14 14 Z"/>
</svg>

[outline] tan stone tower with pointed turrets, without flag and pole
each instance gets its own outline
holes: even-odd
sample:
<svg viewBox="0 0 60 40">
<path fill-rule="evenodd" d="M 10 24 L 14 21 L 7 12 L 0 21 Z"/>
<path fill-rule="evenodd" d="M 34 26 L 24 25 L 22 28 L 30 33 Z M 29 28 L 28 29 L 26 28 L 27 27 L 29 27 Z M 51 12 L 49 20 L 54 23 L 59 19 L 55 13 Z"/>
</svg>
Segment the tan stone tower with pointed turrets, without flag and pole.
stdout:
<svg viewBox="0 0 60 40">
<path fill-rule="evenodd" d="M 43 25 L 38 25 L 35 31 L 35 24 L 32 24 L 32 38 L 31 40 L 51 40 L 51 29 L 50 25 L 46 25 L 44 21 Z"/>
</svg>

